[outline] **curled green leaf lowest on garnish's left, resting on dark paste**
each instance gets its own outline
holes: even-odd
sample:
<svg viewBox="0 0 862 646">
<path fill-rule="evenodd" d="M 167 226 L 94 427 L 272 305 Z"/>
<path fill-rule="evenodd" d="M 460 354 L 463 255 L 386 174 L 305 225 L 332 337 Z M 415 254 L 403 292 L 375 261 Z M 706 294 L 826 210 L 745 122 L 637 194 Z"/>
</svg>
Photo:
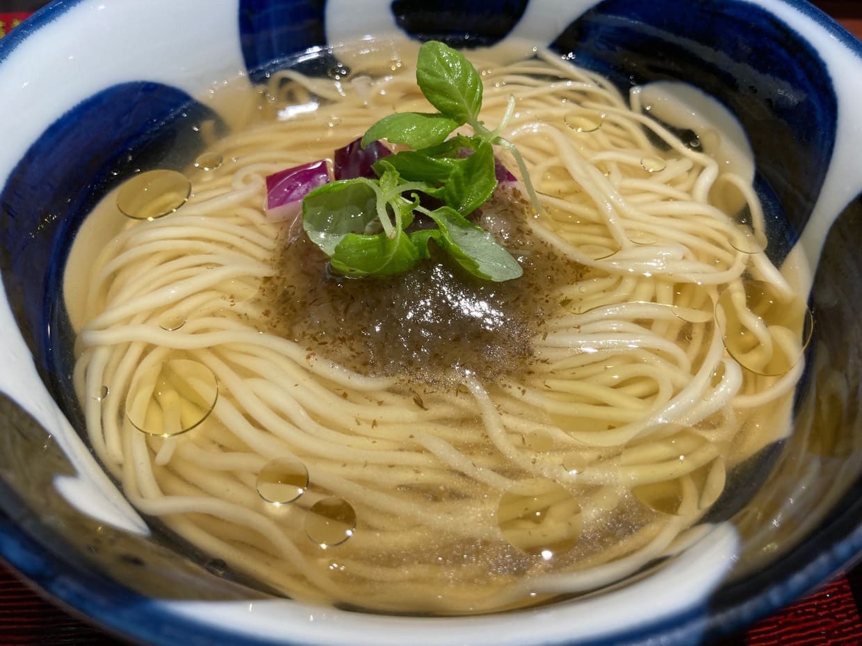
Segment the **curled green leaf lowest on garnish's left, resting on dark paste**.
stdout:
<svg viewBox="0 0 862 646">
<path fill-rule="evenodd" d="M 395 276 L 413 269 L 420 261 L 422 253 L 400 231 L 394 239 L 385 233 L 347 233 L 329 262 L 335 272 L 345 276 Z"/>
</svg>

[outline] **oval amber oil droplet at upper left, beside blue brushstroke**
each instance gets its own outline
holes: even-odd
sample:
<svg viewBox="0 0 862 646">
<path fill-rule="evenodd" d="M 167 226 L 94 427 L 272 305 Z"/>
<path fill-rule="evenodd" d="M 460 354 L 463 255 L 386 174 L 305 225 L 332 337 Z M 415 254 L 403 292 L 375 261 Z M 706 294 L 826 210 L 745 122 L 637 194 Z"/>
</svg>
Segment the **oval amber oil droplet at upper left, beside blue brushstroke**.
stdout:
<svg viewBox="0 0 862 646">
<path fill-rule="evenodd" d="M 116 194 L 116 206 L 134 220 L 172 214 L 191 196 L 191 182 L 177 171 L 147 171 L 131 177 Z"/>
</svg>

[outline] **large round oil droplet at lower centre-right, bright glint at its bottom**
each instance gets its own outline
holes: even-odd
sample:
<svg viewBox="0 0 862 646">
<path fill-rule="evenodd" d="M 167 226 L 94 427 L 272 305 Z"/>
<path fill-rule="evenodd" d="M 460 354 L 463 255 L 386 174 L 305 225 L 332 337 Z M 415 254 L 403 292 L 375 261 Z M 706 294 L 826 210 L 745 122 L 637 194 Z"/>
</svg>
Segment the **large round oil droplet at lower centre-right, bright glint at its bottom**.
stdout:
<svg viewBox="0 0 862 646">
<path fill-rule="evenodd" d="M 559 482 L 532 478 L 509 488 L 497 506 L 497 523 L 510 545 L 550 559 L 578 543 L 583 519 L 574 496 Z"/>
</svg>

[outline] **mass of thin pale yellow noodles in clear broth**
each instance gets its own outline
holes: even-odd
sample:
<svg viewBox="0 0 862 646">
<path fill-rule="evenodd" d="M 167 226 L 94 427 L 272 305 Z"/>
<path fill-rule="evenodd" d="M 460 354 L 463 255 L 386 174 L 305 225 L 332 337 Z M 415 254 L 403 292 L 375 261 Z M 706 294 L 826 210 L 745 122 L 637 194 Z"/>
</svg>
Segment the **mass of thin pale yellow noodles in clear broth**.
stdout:
<svg viewBox="0 0 862 646">
<path fill-rule="evenodd" d="M 766 370 L 801 354 L 800 326 L 766 325 L 746 284 L 792 290 L 718 206 L 741 196 L 762 233 L 753 189 L 551 53 L 484 65 L 484 120 L 516 99 L 503 136 L 539 193 L 529 233 L 578 277 L 548 285 L 525 374 L 364 374 L 273 332 L 262 295 L 296 231 L 262 204 L 267 175 L 428 111 L 406 62 L 367 65 L 272 75 L 251 125 L 212 143 L 224 163 L 187 171 L 189 201 L 129 220 L 89 264 L 74 383 L 93 449 L 142 512 L 317 603 L 489 612 L 672 554 L 726 474 L 784 432 L 803 369 Z M 728 353 L 716 303 L 754 363 Z M 264 500 L 274 458 L 307 469 L 296 500 Z"/>
</svg>

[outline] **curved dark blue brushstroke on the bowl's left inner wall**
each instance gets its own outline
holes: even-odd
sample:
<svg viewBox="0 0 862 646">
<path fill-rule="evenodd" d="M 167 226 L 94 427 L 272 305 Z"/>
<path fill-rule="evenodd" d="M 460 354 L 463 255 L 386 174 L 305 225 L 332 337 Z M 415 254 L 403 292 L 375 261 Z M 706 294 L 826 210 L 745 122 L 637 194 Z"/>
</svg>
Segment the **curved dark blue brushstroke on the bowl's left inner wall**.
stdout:
<svg viewBox="0 0 862 646">
<path fill-rule="evenodd" d="M 0 193 L 0 276 L 48 388 L 71 374 L 62 272 L 84 216 L 136 168 L 178 168 L 203 149 L 194 129 L 222 123 L 181 90 L 134 82 L 102 90 L 55 121 Z"/>
</svg>

